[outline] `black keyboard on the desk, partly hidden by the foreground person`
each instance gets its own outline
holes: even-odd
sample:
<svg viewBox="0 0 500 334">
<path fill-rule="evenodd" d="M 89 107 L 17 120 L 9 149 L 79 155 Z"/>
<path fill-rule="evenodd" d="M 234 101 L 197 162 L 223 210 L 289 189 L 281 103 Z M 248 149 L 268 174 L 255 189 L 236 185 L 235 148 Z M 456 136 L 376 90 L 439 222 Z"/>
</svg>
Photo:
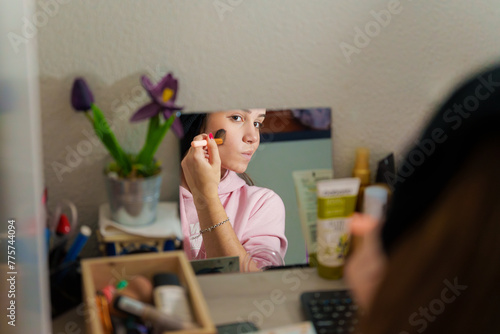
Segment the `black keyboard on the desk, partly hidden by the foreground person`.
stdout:
<svg viewBox="0 0 500 334">
<path fill-rule="evenodd" d="M 348 290 L 304 292 L 302 310 L 318 334 L 353 333 L 358 306 Z"/>
</svg>

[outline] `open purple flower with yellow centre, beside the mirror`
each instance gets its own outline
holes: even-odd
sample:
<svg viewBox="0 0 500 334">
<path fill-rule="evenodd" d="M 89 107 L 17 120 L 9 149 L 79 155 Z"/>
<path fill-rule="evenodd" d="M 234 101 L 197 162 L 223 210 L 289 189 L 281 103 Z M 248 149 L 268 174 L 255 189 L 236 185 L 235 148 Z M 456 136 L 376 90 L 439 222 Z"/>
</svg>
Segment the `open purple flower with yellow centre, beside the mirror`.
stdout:
<svg viewBox="0 0 500 334">
<path fill-rule="evenodd" d="M 132 118 L 131 122 L 142 121 L 151 117 L 163 114 L 165 119 L 168 119 L 172 113 L 176 113 L 182 110 L 182 107 L 175 105 L 175 99 L 177 97 L 178 83 L 177 79 L 174 78 L 172 73 L 163 77 L 160 82 L 153 85 L 151 80 L 147 76 L 142 76 L 141 78 L 142 86 L 148 92 L 149 96 L 153 100 L 151 103 L 146 104 L 140 108 Z M 176 118 L 172 124 L 172 129 L 174 130 L 177 137 L 182 138 L 184 136 L 184 131 L 182 130 L 182 124 L 179 118 Z"/>
</svg>

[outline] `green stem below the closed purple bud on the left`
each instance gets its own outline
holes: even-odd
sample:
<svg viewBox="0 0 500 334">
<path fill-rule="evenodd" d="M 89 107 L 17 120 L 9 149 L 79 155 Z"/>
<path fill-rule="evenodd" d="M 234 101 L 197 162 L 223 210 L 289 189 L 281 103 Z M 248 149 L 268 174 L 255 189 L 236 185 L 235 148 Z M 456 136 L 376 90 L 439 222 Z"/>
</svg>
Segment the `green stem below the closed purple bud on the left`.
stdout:
<svg viewBox="0 0 500 334">
<path fill-rule="evenodd" d="M 92 104 L 92 113 L 94 116 L 94 130 L 97 137 L 101 139 L 101 142 L 104 144 L 113 159 L 115 159 L 122 171 L 122 174 L 124 176 L 128 175 L 132 170 L 132 162 L 130 161 L 130 158 L 122 150 L 120 144 L 118 144 L 118 141 L 116 140 L 116 137 L 102 111 L 95 104 Z"/>
</svg>

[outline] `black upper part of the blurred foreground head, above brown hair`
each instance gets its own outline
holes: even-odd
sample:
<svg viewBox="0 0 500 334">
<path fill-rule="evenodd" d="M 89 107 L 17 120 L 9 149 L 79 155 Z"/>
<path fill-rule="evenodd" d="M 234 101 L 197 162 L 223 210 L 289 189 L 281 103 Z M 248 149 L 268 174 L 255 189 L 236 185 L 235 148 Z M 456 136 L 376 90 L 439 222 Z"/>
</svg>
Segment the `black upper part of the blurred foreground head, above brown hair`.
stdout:
<svg viewBox="0 0 500 334">
<path fill-rule="evenodd" d="M 400 236 L 423 217 L 476 143 L 499 131 L 498 83 L 500 67 L 484 71 L 459 87 L 406 155 L 393 183 L 394 196 L 382 228 L 382 245 L 387 254 Z M 462 107 L 462 113 L 455 112 L 457 106 Z"/>
</svg>

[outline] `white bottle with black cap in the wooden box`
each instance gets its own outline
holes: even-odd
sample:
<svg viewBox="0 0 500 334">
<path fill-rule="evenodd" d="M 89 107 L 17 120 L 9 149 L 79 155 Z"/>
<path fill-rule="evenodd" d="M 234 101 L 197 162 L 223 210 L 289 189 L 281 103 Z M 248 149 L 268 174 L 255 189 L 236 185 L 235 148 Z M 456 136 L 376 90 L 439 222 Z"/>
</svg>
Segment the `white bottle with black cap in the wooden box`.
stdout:
<svg viewBox="0 0 500 334">
<path fill-rule="evenodd" d="M 187 291 L 176 274 L 156 274 L 153 276 L 153 285 L 153 298 L 157 309 L 184 322 L 193 322 Z"/>
</svg>

